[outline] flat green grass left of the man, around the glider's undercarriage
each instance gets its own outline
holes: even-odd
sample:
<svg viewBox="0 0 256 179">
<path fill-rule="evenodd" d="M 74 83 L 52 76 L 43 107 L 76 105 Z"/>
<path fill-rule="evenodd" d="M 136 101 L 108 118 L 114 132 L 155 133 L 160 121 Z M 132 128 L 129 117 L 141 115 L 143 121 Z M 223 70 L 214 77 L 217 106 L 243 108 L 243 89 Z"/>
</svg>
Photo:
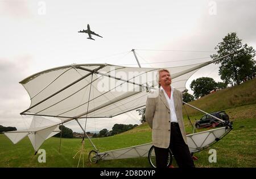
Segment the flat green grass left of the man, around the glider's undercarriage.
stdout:
<svg viewBox="0 0 256 179">
<path fill-rule="evenodd" d="M 138 129 L 137 129 L 138 130 Z M 151 132 L 139 132 L 130 134 L 120 134 L 108 138 L 92 139 L 96 147 L 101 151 L 125 148 L 151 142 Z M 18 144 L 13 144 L 5 136 L 0 135 L 0 167 L 76 167 L 79 155 L 76 159 L 72 157 L 81 147 L 81 139 L 62 139 L 61 151 L 59 153 L 59 138 L 50 138 L 40 147 L 46 150 L 46 163 L 38 163 L 38 156 L 34 155 L 34 150 L 28 138 L 23 139 Z M 88 153 L 92 150 L 88 139 L 85 140 L 85 167 L 150 167 L 146 158 L 100 161 L 99 164 L 90 164 Z M 82 166 L 82 160 L 80 163 Z"/>
</svg>

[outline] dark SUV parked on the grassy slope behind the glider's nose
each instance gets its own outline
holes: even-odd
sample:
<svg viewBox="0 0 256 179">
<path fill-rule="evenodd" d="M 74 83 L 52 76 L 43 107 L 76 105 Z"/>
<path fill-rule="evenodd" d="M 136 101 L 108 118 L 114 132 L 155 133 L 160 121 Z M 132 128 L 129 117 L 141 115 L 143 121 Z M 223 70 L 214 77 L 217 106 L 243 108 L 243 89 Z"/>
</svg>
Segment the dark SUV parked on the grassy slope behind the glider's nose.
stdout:
<svg viewBox="0 0 256 179">
<path fill-rule="evenodd" d="M 229 120 L 229 116 L 228 114 L 225 113 L 225 111 L 218 111 L 216 113 L 211 113 L 211 115 L 216 116 L 217 118 L 222 120 Z M 200 128 L 200 127 L 207 127 L 210 125 L 221 126 L 221 124 L 222 123 L 219 120 L 206 114 L 206 115 L 203 115 L 200 120 L 196 121 L 195 126 L 196 128 Z"/>
</svg>

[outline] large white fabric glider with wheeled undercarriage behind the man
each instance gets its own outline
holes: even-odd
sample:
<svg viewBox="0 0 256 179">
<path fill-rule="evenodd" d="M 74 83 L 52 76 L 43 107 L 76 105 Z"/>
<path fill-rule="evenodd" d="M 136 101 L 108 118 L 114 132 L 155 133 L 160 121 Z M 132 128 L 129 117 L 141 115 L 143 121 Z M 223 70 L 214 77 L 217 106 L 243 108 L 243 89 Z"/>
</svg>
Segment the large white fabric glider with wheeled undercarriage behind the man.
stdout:
<svg viewBox="0 0 256 179">
<path fill-rule="evenodd" d="M 166 68 L 171 72 L 172 86 L 180 91 L 185 90 L 185 83 L 196 70 L 233 54 L 206 63 Z M 94 148 L 89 153 L 90 162 L 148 157 L 150 164 L 155 166 L 152 143 L 100 152 L 86 134 L 86 128 L 81 126 L 79 120 L 113 118 L 143 108 L 146 105 L 148 94 L 158 89 L 155 74 L 159 69 L 110 64 L 72 64 L 33 74 L 20 81 L 31 99 L 30 107 L 20 114 L 34 116 L 31 126 L 28 130 L 5 132 L 5 135 L 14 144 L 28 136 L 36 152 L 44 140 L 60 132 L 60 124 L 76 120 Z M 208 114 L 194 106 L 191 107 Z M 60 122 L 53 123 L 44 117 L 57 118 Z M 212 117 L 216 118 L 216 116 Z M 224 122 L 221 119 L 218 120 Z M 228 134 L 230 130 L 232 130 L 232 124 L 225 121 L 224 127 L 187 135 L 190 152 L 200 152 L 208 148 Z M 170 165 L 171 151 L 169 161 Z"/>
</svg>

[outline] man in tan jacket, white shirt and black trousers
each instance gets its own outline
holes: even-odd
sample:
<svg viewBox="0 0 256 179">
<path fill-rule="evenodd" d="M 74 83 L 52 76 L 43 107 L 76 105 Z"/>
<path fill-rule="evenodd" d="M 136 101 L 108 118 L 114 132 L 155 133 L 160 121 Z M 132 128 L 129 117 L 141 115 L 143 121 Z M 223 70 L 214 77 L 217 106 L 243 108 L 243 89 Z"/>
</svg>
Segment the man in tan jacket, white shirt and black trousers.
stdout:
<svg viewBox="0 0 256 179">
<path fill-rule="evenodd" d="M 182 115 L 182 93 L 171 86 L 171 75 L 161 69 L 156 75 L 159 90 L 150 93 L 146 102 L 146 121 L 152 128 L 156 167 L 167 167 L 168 148 L 181 168 L 195 167 L 187 145 Z"/>
</svg>

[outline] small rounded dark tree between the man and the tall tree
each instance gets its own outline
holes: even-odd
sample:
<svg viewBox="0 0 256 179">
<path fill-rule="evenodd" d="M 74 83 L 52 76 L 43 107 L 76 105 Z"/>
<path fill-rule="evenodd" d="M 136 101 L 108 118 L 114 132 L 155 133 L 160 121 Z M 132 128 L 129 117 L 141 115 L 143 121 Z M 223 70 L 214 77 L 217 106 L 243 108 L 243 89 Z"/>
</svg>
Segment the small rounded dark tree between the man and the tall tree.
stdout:
<svg viewBox="0 0 256 179">
<path fill-rule="evenodd" d="M 203 97 L 210 93 L 211 90 L 215 89 L 217 83 L 213 78 L 201 77 L 193 80 L 190 84 L 190 88 L 194 91 L 194 96 L 196 99 Z"/>
</svg>

